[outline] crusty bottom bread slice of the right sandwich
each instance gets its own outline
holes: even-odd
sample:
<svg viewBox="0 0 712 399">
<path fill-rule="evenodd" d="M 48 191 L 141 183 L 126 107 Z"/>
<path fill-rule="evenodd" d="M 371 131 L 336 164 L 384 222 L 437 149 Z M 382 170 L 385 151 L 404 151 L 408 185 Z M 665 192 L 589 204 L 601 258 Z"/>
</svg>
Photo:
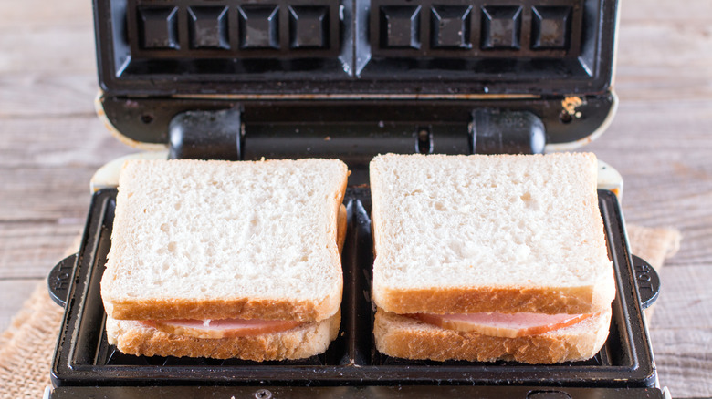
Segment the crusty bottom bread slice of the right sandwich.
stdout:
<svg viewBox="0 0 712 399">
<path fill-rule="evenodd" d="M 590 359 L 608 337 L 611 311 L 550 333 L 504 338 L 447 330 L 379 309 L 376 348 L 389 356 L 435 361 L 517 361 L 550 364 Z"/>
</svg>

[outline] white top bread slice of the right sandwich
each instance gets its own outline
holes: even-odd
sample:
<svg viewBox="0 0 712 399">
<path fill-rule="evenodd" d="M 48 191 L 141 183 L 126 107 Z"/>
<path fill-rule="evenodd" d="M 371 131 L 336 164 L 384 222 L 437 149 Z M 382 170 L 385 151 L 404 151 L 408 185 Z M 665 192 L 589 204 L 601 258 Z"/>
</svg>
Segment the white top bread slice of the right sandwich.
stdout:
<svg viewBox="0 0 712 399">
<path fill-rule="evenodd" d="M 592 154 L 373 159 L 373 301 L 394 313 L 610 309 L 596 179 Z"/>
</svg>

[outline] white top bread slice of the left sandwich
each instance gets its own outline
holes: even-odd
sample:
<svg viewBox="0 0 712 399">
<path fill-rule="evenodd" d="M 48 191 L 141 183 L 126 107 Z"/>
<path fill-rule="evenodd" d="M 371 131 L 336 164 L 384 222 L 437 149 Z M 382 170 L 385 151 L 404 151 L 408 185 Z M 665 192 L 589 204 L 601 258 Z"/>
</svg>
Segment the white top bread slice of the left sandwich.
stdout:
<svg viewBox="0 0 712 399">
<path fill-rule="evenodd" d="M 340 160 L 141 160 L 120 173 L 110 317 L 320 321 L 340 308 Z"/>
</svg>

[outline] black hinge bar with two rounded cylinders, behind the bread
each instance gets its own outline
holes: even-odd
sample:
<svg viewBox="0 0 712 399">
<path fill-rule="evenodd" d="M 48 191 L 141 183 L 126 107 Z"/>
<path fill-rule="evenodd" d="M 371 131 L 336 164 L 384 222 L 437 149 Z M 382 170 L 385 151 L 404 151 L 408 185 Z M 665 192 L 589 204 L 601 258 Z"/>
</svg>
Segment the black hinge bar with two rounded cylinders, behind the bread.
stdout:
<svg viewBox="0 0 712 399">
<path fill-rule="evenodd" d="M 343 109 L 321 111 L 338 114 Z M 169 125 L 169 158 L 339 158 L 349 164 L 352 182 L 365 183 L 368 163 L 378 154 L 537 154 L 546 144 L 543 122 L 529 111 L 477 108 L 469 124 L 436 118 L 383 121 L 383 115 L 371 108 L 358 111 L 363 117 L 358 121 L 315 121 L 305 112 L 305 120 L 285 122 L 279 120 L 285 112 L 272 110 L 277 114 L 267 115 L 273 118 L 262 116 L 247 128 L 236 108 L 185 111 Z"/>
</svg>

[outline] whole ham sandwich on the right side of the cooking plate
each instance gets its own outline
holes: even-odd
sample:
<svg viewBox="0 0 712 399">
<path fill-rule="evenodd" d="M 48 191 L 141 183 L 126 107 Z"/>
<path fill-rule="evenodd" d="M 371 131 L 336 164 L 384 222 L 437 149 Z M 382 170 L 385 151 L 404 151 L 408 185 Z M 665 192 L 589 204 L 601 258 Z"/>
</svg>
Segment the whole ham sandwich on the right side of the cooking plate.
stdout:
<svg viewBox="0 0 712 399">
<path fill-rule="evenodd" d="M 598 353 L 615 282 L 595 156 L 389 154 L 370 173 L 378 351 L 521 363 Z"/>
</svg>

